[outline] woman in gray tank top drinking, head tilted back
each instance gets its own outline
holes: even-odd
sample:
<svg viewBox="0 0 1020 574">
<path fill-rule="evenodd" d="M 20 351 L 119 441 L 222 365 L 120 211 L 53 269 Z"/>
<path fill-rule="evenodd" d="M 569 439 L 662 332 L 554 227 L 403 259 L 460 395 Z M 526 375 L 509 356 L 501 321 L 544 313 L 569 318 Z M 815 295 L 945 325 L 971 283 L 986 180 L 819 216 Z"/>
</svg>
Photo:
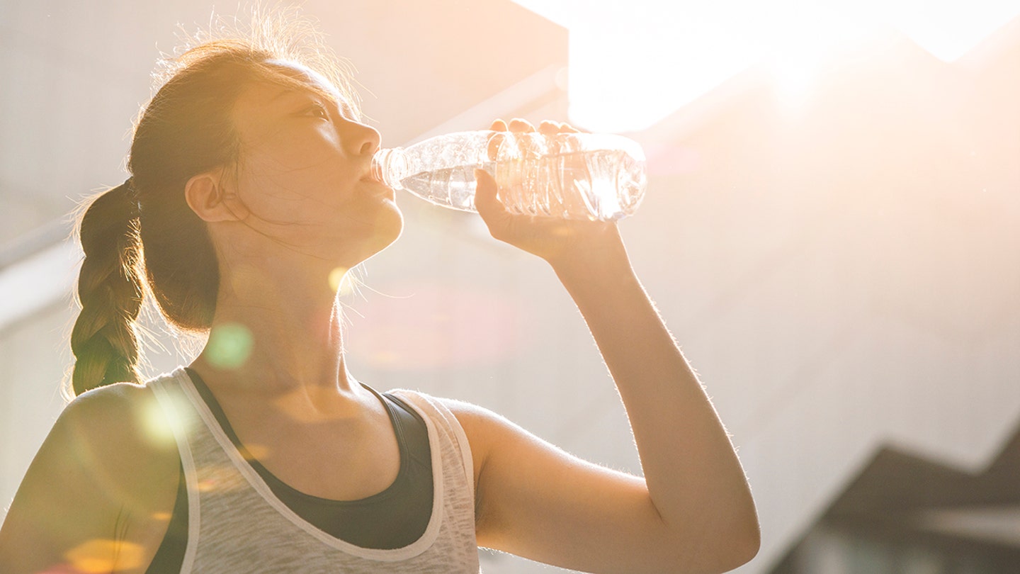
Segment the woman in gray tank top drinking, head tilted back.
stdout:
<svg viewBox="0 0 1020 574">
<path fill-rule="evenodd" d="M 580 308 L 644 478 L 348 373 L 329 279 L 403 222 L 344 78 L 280 44 L 177 57 L 139 117 L 132 177 L 85 212 L 78 397 L 0 529 L 0 571 L 471 572 L 478 545 L 588 572 L 751 560 L 740 462 L 614 223 L 511 214 L 476 174 L 492 235 L 548 261 Z M 138 384 L 146 290 L 172 325 L 212 336 L 189 368 Z M 217 333 L 252 341 L 247 360 L 224 361 Z"/>
</svg>

